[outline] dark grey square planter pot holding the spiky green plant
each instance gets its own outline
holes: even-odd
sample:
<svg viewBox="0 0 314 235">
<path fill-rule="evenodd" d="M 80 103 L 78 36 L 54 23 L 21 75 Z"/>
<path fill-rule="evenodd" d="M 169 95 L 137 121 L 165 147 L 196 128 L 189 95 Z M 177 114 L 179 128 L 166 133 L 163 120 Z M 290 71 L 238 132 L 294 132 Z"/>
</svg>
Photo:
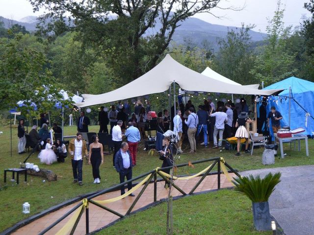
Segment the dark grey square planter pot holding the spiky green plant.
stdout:
<svg viewBox="0 0 314 235">
<path fill-rule="evenodd" d="M 271 230 L 268 202 L 252 202 L 254 227 L 257 231 Z"/>
</svg>

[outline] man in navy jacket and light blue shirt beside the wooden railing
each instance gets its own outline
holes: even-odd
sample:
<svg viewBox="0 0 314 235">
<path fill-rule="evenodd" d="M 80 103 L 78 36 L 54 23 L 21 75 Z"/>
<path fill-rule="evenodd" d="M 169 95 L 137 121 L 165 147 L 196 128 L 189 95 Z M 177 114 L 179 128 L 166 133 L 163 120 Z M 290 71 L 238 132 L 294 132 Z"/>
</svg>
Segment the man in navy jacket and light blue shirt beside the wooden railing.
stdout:
<svg viewBox="0 0 314 235">
<path fill-rule="evenodd" d="M 125 177 L 127 180 L 132 179 L 132 158 L 129 152 L 129 144 L 127 142 L 121 143 L 120 150 L 116 153 L 114 167 L 120 175 L 120 184 L 124 182 Z M 131 190 L 132 182 L 128 183 L 128 190 Z M 121 186 L 121 195 L 125 194 L 124 185 Z M 134 197 L 135 195 L 131 193 L 129 196 Z"/>
</svg>

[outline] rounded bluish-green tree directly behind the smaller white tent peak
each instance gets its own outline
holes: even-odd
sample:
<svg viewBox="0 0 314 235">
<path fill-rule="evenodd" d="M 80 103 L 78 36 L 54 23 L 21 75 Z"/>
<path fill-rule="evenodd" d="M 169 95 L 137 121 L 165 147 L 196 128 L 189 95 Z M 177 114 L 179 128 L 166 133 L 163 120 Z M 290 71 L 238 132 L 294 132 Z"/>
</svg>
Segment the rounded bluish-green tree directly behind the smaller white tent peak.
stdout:
<svg viewBox="0 0 314 235">
<path fill-rule="evenodd" d="M 214 71 L 243 85 L 257 82 L 250 73 L 256 59 L 249 35 L 252 28 L 254 25 L 242 24 L 238 30 L 228 31 L 226 39 L 218 42 L 219 51 L 212 65 Z"/>
</svg>

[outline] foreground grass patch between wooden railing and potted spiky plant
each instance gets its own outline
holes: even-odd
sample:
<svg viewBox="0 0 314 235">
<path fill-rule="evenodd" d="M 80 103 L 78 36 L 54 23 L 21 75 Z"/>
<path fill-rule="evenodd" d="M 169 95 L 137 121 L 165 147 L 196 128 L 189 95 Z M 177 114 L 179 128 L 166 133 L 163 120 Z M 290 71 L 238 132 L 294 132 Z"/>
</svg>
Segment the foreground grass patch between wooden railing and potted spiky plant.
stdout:
<svg viewBox="0 0 314 235">
<path fill-rule="evenodd" d="M 166 234 L 166 216 L 167 203 L 162 203 L 131 215 L 97 235 L 163 235 Z M 175 235 L 272 234 L 271 231 L 255 231 L 251 201 L 244 195 L 228 189 L 175 200 L 173 221 Z"/>
</svg>

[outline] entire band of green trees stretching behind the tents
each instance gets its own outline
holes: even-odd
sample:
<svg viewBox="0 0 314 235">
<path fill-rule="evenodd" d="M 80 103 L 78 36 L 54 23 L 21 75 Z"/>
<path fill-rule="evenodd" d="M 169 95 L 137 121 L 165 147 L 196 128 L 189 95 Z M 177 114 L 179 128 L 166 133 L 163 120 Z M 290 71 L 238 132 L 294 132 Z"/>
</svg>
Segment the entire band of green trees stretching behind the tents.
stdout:
<svg viewBox="0 0 314 235">
<path fill-rule="evenodd" d="M 314 0 L 304 3 L 312 17 L 299 27 L 284 27 L 278 1 L 264 41 L 253 43 L 249 30 L 255 26 L 242 24 L 218 39 L 217 51 L 206 43 L 176 45 L 171 39 L 180 22 L 210 12 L 220 0 L 29 1 L 34 10 L 48 12 L 36 32 L 0 23 L 0 110 L 19 100 L 47 110 L 61 99 L 60 89 L 112 91 L 154 68 L 166 53 L 194 71 L 208 66 L 243 85 L 267 86 L 292 75 L 314 81 Z M 155 33 L 148 34 L 152 28 Z"/>
</svg>

